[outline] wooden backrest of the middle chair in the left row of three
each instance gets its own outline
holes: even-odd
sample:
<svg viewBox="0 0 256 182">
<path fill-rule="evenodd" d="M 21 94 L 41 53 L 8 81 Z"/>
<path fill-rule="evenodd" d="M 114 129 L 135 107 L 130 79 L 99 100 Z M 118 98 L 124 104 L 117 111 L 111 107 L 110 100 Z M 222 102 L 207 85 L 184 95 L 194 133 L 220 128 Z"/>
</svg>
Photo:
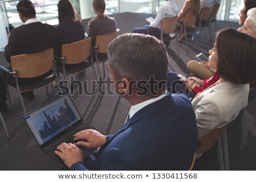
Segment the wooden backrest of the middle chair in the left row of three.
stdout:
<svg viewBox="0 0 256 182">
<path fill-rule="evenodd" d="M 61 47 L 62 57 L 65 57 L 66 64 L 79 64 L 90 56 L 92 38 L 79 40 L 77 42 L 64 44 Z"/>
</svg>

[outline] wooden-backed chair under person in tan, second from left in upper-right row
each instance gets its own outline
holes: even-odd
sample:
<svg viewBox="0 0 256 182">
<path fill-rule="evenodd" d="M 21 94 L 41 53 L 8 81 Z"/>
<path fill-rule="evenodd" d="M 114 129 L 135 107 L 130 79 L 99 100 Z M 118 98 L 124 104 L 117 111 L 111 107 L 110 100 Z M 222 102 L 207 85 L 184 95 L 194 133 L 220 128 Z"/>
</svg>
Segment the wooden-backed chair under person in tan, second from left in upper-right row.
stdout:
<svg viewBox="0 0 256 182">
<path fill-rule="evenodd" d="M 196 17 L 197 14 L 195 13 L 187 13 L 185 15 L 184 20 L 178 20 L 177 21 L 177 32 L 180 34 L 184 34 L 185 38 L 185 44 L 187 47 L 187 55 L 188 55 L 188 39 L 187 39 L 187 33 L 192 33 L 197 31 L 196 28 Z M 196 48 L 198 48 L 198 40 L 197 40 L 197 34 L 196 34 Z"/>
</svg>

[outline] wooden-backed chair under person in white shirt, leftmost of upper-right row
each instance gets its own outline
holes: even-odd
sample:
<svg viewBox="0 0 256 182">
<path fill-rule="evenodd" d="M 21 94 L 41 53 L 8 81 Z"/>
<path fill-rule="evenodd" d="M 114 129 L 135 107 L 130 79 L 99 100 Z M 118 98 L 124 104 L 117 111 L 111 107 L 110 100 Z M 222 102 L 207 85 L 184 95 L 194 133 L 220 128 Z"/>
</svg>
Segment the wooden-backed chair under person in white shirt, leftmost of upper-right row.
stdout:
<svg viewBox="0 0 256 182">
<path fill-rule="evenodd" d="M 163 44 L 167 44 L 167 47 L 170 45 L 171 40 L 176 38 L 177 51 L 178 51 L 178 54 L 180 54 L 178 40 L 177 40 L 176 24 L 177 24 L 177 16 L 174 16 L 171 18 L 163 18 L 161 23 L 161 28 L 160 28 L 160 31 L 161 31 L 160 38 Z M 174 34 L 174 35 L 164 37 L 164 34 L 166 35 Z"/>
</svg>

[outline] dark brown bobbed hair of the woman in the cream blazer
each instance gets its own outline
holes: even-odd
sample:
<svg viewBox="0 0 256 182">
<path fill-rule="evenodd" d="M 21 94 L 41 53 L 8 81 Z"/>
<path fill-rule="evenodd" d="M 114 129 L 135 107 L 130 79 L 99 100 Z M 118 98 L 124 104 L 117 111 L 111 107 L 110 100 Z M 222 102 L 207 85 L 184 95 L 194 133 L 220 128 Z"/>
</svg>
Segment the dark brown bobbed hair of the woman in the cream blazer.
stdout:
<svg viewBox="0 0 256 182">
<path fill-rule="evenodd" d="M 216 34 L 217 71 L 225 80 L 246 84 L 256 80 L 256 39 L 233 28 Z"/>
</svg>

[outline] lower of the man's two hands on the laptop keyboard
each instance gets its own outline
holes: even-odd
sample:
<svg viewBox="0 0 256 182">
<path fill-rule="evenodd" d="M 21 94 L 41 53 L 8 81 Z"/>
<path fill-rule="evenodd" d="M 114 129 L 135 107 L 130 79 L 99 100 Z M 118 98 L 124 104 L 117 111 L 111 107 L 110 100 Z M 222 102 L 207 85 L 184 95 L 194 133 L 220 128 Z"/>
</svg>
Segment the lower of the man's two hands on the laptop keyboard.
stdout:
<svg viewBox="0 0 256 182">
<path fill-rule="evenodd" d="M 73 164 L 80 161 L 83 162 L 84 160 L 82 151 L 76 146 L 76 144 L 61 143 L 59 146 L 57 146 L 57 150 L 55 151 L 55 154 L 58 155 L 69 168 Z"/>
</svg>

